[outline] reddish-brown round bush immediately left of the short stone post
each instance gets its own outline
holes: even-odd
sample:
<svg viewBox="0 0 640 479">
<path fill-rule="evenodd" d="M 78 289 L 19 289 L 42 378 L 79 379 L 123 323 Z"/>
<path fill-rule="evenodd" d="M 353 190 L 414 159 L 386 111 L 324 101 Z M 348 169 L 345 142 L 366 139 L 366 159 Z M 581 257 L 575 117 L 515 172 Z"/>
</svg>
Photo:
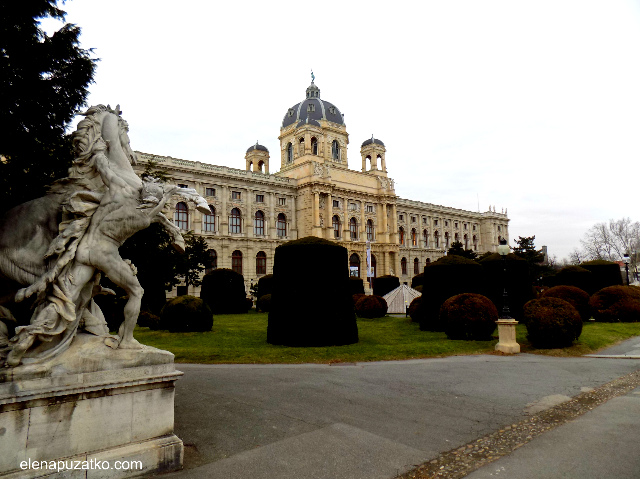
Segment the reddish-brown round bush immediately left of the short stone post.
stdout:
<svg viewBox="0 0 640 479">
<path fill-rule="evenodd" d="M 498 310 L 481 294 L 463 293 L 446 300 L 440 308 L 440 321 L 449 339 L 488 341 L 496 329 Z"/>
</svg>

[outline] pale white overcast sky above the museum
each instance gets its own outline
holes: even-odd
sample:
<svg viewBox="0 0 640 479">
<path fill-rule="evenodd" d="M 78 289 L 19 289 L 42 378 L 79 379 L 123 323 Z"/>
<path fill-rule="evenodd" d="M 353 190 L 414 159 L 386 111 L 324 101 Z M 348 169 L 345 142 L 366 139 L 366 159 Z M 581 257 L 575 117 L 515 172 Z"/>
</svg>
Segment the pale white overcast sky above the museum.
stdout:
<svg viewBox="0 0 640 479">
<path fill-rule="evenodd" d="M 313 69 L 373 134 L 403 198 L 508 208 L 511 238 L 567 257 L 595 223 L 640 220 L 640 3 L 70 1 L 100 58 L 89 104 L 120 104 L 146 153 L 244 168 Z M 513 245 L 513 241 L 512 241 Z"/>
</svg>

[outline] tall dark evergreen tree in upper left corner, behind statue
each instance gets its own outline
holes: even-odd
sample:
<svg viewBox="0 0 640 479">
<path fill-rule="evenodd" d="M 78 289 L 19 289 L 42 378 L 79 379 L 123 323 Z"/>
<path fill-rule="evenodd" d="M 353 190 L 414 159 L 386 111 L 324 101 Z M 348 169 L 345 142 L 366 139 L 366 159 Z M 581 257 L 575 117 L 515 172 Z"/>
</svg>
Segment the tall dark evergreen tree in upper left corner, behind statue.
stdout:
<svg viewBox="0 0 640 479">
<path fill-rule="evenodd" d="M 64 21 L 56 3 L 0 2 L 0 212 L 42 196 L 73 159 L 65 131 L 98 60 L 80 48 L 76 25 L 42 30 L 44 18 Z"/>
</svg>

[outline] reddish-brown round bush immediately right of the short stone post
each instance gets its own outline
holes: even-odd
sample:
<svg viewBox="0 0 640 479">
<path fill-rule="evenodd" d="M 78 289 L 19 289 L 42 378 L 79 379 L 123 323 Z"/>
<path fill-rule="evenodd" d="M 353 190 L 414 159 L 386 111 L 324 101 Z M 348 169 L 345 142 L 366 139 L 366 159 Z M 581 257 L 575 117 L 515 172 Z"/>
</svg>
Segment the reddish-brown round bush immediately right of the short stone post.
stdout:
<svg viewBox="0 0 640 479">
<path fill-rule="evenodd" d="M 533 299 L 524 305 L 527 338 L 536 348 L 571 346 L 582 333 L 580 314 L 560 298 Z"/>
</svg>

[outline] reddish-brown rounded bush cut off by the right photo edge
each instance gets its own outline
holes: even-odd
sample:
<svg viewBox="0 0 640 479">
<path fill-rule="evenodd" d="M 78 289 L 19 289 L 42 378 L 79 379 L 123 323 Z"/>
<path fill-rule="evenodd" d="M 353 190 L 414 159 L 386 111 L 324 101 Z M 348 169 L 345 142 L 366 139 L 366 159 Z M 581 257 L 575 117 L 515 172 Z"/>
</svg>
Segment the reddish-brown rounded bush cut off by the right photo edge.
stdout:
<svg viewBox="0 0 640 479">
<path fill-rule="evenodd" d="M 596 321 L 633 323 L 640 321 L 640 288 L 608 286 L 591 296 L 589 306 Z"/>
</svg>

